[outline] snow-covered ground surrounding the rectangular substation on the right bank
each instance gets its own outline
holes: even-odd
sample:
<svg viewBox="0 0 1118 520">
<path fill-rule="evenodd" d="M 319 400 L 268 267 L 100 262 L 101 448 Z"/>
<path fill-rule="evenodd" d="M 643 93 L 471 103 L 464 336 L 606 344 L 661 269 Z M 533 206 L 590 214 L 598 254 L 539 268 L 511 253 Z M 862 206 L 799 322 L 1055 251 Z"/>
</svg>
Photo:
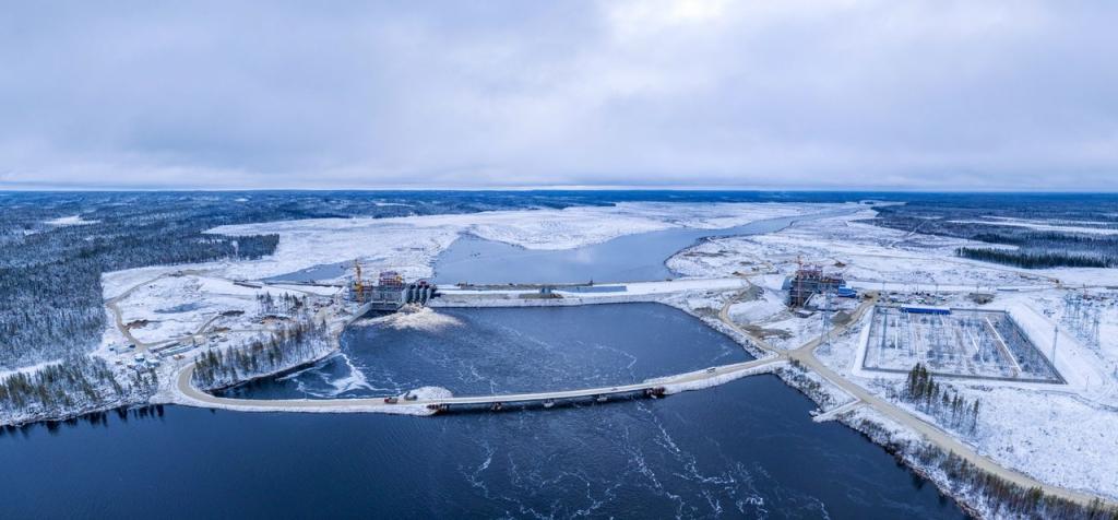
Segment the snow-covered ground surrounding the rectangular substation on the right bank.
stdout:
<svg viewBox="0 0 1118 520">
<path fill-rule="evenodd" d="M 863 290 L 938 289 L 941 294 L 936 297 L 946 305 L 1008 311 L 1045 356 L 1051 356 L 1055 323 L 1064 312 L 1063 296 L 1069 291 L 1064 287 L 1096 287 L 1090 292 L 1101 299 L 1098 305 L 1102 308 L 1098 348 L 1084 347 L 1065 328 L 1060 331 L 1055 365 L 1067 385 L 941 380 L 966 399 L 982 401 L 977 432 L 958 435 L 979 453 L 1044 482 L 1118 498 L 1118 437 L 1112 435 L 1118 431 L 1118 302 L 1115 296 L 1106 300 L 1114 291 L 1101 289 L 1118 285 L 1118 271 L 1025 271 L 963 259 L 954 250 L 967 245 L 965 240 L 853 221 L 868 216 L 802 221 L 769 235 L 707 240 L 675 255 L 669 265 L 692 276 L 750 275 L 765 292 L 735 304 L 730 315 L 741 324 L 789 331 L 794 339 L 766 338 L 777 347 L 798 346 L 819 332 L 817 318 L 797 319 L 776 304 L 780 284 L 795 271 L 797 258 L 842 272 L 852 286 Z M 976 290 L 995 293 L 994 301 L 975 304 L 967 296 Z M 887 397 L 890 389 L 903 386 L 904 376 L 859 369 L 869 319 L 866 314 L 856 327 L 817 348 L 816 356 L 850 380 Z M 862 408 L 852 414 L 874 415 Z"/>
</svg>

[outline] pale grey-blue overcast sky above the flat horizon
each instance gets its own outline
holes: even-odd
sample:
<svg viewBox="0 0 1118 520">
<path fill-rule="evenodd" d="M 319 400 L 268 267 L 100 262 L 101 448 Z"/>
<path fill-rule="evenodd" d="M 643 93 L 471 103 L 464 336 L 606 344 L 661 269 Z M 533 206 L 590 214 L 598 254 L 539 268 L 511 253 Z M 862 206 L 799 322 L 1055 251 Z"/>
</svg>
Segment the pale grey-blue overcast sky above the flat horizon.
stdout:
<svg viewBox="0 0 1118 520">
<path fill-rule="evenodd" d="M 4 2 L 0 189 L 1118 189 L 1114 1 L 343 6 Z"/>
</svg>

